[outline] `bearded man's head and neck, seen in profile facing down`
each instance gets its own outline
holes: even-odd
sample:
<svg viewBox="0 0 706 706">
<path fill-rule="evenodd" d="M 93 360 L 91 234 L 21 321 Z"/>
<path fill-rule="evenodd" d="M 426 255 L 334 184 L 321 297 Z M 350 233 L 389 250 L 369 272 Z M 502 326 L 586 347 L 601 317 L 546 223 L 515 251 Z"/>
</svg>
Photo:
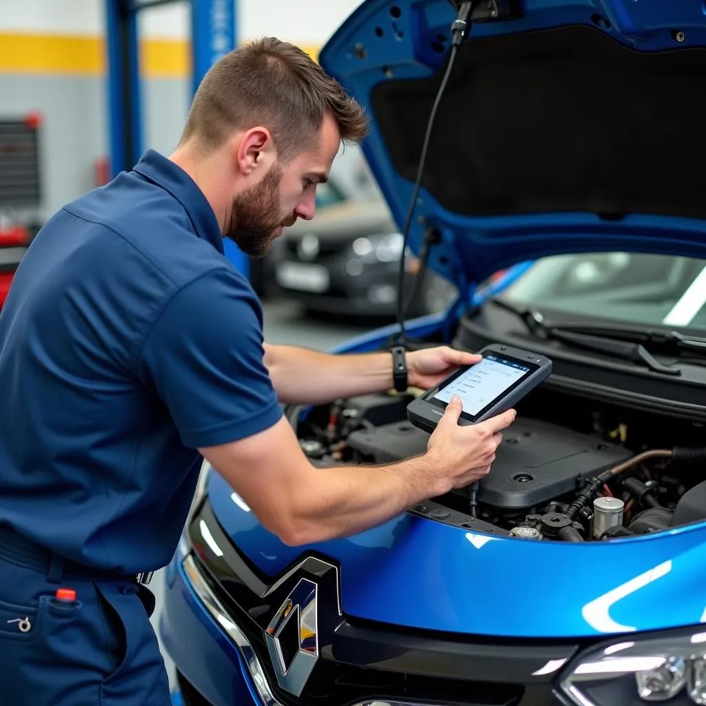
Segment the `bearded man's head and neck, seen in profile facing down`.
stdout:
<svg viewBox="0 0 706 706">
<path fill-rule="evenodd" d="M 273 38 L 223 57 L 196 92 L 172 158 L 192 174 L 222 232 L 251 256 L 315 211 L 341 141 L 367 132 L 361 107 L 301 49 Z"/>
</svg>

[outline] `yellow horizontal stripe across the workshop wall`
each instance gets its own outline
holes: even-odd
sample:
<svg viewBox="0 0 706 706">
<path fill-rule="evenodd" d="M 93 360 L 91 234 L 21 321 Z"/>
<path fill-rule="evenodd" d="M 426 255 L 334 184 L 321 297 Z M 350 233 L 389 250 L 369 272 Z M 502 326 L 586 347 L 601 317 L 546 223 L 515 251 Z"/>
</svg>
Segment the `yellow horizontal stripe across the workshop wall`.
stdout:
<svg viewBox="0 0 706 706">
<path fill-rule="evenodd" d="M 316 61 L 316 47 L 301 48 Z M 102 37 L 0 32 L 0 74 L 103 76 L 106 65 Z M 188 41 L 140 41 L 140 75 L 144 78 L 187 78 L 190 72 Z"/>
</svg>

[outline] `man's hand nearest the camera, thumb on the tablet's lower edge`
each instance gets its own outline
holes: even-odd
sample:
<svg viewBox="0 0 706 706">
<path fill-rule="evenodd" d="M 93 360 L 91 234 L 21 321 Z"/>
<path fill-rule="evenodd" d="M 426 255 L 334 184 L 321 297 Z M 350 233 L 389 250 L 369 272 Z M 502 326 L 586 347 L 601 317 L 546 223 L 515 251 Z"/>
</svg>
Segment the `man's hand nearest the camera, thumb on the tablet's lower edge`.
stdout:
<svg viewBox="0 0 706 706">
<path fill-rule="evenodd" d="M 516 414 L 514 409 L 508 409 L 479 424 L 460 426 L 461 412 L 461 400 L 452 397 L 426 446 L 426 460 L 431 462 L 429 472 L 436 476 L 431 480 L 435 495 L 464 488 L 486 476 L 503 440 L 501 431 L 515 421 Z"/>
</svg>

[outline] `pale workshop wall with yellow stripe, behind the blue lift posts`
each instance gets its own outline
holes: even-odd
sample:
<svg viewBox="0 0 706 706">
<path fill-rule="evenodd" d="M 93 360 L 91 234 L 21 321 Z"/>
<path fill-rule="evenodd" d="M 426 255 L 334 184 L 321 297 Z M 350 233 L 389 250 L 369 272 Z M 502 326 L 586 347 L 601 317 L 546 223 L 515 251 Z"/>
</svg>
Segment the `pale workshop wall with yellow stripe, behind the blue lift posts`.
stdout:
<svg viewBox="0 0 706 706">
<path fill-rule="evenodd" d="M 239 39 L 273 35 L 316 54 L 358 5 L 239 0 Z M 141 13 L 145 148 L 174 148 L 186 119 L 189 26 L 186 0 Z M 44 116 L 45 215 L 90 189 L 108 152 L 106 70 L 104 0 L 0 0 L 0 119 Z"/>
</svg>

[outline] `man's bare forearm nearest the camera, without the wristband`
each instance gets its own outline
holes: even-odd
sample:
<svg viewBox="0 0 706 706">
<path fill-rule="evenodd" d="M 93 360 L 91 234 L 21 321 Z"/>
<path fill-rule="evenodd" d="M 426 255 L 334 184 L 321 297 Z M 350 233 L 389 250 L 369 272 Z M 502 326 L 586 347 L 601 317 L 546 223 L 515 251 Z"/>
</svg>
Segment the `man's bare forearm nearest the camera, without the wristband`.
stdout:
<svg viewBox="0 0 706 706">
<path fill-rule="evenodd" d="M 427 455 L 390 466 L 316 469 L 320 477 L 293 493 L 290 544 L 313 544 L 376 527 L 435 495 Z"/>
</svg>

